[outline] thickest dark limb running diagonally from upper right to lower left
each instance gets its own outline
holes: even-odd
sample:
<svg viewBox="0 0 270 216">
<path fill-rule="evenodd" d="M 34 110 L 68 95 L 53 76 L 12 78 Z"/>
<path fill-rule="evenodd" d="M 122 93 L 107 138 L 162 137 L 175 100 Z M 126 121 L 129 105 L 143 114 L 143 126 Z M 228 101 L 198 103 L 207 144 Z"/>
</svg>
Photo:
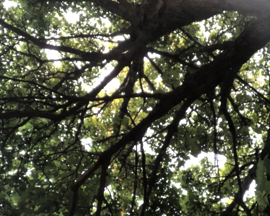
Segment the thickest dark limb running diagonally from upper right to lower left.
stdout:
<svg viewBox="0 0 270 216">
<path fill-rule="evenodd" d="M 162 98 L 160 103 L 153 108 L 145 119 L 131 129 L 129 134 L 125 135 L 111 148 L 103 152 L 102 157 L 110 157 L 128 142 L 136 141 L 141 137 L 141 134 L 145 133 L 153 121 L 159 119 L 187 96 L 193 97 L 196 95 L 198 97 L 219 85 L 223 76 L 225 76 L 230 68 L 240 67 L 255 51 L 268 42 L 270 39 L 270 28 L 268 27 L 269 23 L 265 23 L 264 21 L 265 20 L 252 20 L 249 25 L 246 26 L 243 33 L 235 40 L 232 47 L 228 47 L 228 49 L 220 54 L 213 62 L 201 67 L 197 72 L 185 78 L 183 85 L 174 89 L 166 98 Z M 265 29 L 268 29 L 268 31 L 265 31 Z M 263 33 L 261 31 L 263 31 Z M 254 40 L 254 38 L 257 38 L 257 40 Z M 261 40 L 258 40 L 258 38 L 261 38 Z M 175 100 L 171 101 L 171 98 L 175 98 Z M 99 165 L 100 160 L 93 164 L 81 176 L 75 183 L 74 188 L 83 184 L 83 182 L 95 172 Z"/>
</svg>

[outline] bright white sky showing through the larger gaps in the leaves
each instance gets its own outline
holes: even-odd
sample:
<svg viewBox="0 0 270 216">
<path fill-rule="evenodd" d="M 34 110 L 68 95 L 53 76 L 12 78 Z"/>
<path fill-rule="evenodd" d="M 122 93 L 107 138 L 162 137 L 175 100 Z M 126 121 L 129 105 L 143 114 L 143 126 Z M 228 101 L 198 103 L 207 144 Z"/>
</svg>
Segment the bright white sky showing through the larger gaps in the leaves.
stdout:
<svg viewBox="0 0 270 216">
<path fill-rule="evenodd" d="M 3 5 L 4 5 L 4 7 L 5 7 L 6 9 L 9 9 L 9 8 L 11 8 L 11 7 L 16 7 L 16 6 L 17 6 L 17 3 L 16 3 L 15 1 L 8 1 L 8 0 L 6 0 L 6 1 L 3 2 Z M 68 12 L 66 12 L 66 13 L 64 14 L 64 16 L 65 16 L 65 19 L 66 19 L 69 23 L 76 23 L 76 22 L 79 20 L 80 14 L 83 15 L 83 12 L 73 13 L 72 11 L 69 10 Z M 110 25 L 110 22 L 109 22 L 107 19 L 102 18 L 102 22 L 104 22 L 106 25 Z M 204 32 L 204 36 L 205 36 L 205 37 L 208 37 L 208 36 L 209 36 L 210 33 L 209 33 L 209 32 L 205 32 L 204 25 L 201 25 L 201 30 L 202 30 L 202 32 Z M 58 35 L 53 35 L 53 37 L 57 37 L 57 36 L 58 36 Z M 231 35 L 229 35 L 229 33 L 228 33 L 227 36 L 228 36 L 228 37 L 231 37 Z M 123 36 L 115 37 L 115 38 L 114 38 L 114 41 L 117 41 L 117 40 L 124 40 L 124 38 L 123 38 Z M 54 44 L 53 44 L 53 43 L 54 43 Z M 53 44 L 53 45 L 56 45 L 55 42 L 52 42 L 52 44 Z M 18 46 L 19 46 L 19 45 L 18 45 Z M 46 53 L 46 55 L 47 55 L 47 58 L 50 59 L 50 60 L 52 60 L 52 59 L 59 59 L 59 58 L 60 58 L 60 54 L 59 54 L 58 51 L 45 49 L 45 53 Z M 154 55 L 153 55 L 153 54 L 149 53 L 149 57 L 150 57 L 150 58 L 155 58 L 155 57 L 158 58 L 158 57 L 160 57 L 160 56 L 157 55 L 157 54 L 154 54 Z M 259 59 L 259 58 L 260 58 L 259 53 L 255 54 L 255 61 L 256 61 L 256 59 Z M 148 61 L 147 58 L 144 58 L 144 60 L 145 60 L 145 61 Z M 54 66 L 55 66 L 55 67 L 60 67 L 60 66 L 61 66 L 61 62 L 60 62 L 60 61 L 54 62 Z M 78 62 L 76 66 L 77 66 L 78 68 L 80 68 L 80 62 Z M 92 86 L 92 85 L 89 86 L 89 85 L 87 85 L 87 83 L 83 83 L 83 82 L 82 82 L 82 87 L 83 87 L 87 92 L 89 92 L 92 88 L 95 87 L 95 85 L 99 84 L 100 81 L 102 81 L 102 80 L 104 79 L 104 77 L 105 77 L 106 75 L 108 75 L 108 74 L 112 71 L 113 68 L 114 68 L 114 67 L 113 67 L 112 65 L 107 64 L 107 65 L 106 65 L 106 68 L 101 70 L 100 76 L 99 76 L 98 78 L 96 78 L 96 80 L 95 80 L 95 82 L 94 82 L 94 86 Z M 82 80 L 80 80 L 80 81 L 82 81 Z M 155 81 L 158 82 L 158 79 L 156 79 Z M 261 78 L 261 79 L 259 78 L 258 81 L 262 83 L 261 85 L 263 85 L 263 83 L 265 82 L 265 80 L 264 80 L 263 78 Z M 108 83 L 108 85 L 107 85 L 106 88 L 104 88 L 104 89 L 105 89 L 107 92 L 112 92 L 112 91 L 114 91 L 115 89 L 117 89 L 117 88 L 119 87 L 119 85 L 120 85 L 119 80 L 118 80 L 117 78 L 114 78 L 111 82 Z M 148 135 L 150 135 L 151 131 L 147 131 L 147 133 L 149 133 Z M 256 138 L 255 138 L 255 140 L 253 140 L 253 141 L 254 141 L 254 142 L 255 142 L 255 141 L 257 141 L 257 142 L 262 142 L 262 140 L 261 140 L 261 134 L 255 134 L 255 135 L 256 135 Z M 92 140 L 91 140 L 90 138 L 88 138 L 88 139 L 82 139 L 81 141 L 82 141 L 83 144 L 85 145 L 86 150 L 87 150 L 87 151 L 90 151 L 90 147 L 89 147 L 89 145 L 87 145 L 87 144 L 90 144 L 90 143 L 92 142 Z M 138 148 L 138 150 L 139 150 L 139 149 L 140 149 L 140 146 L 138 145 L 137 148 Z M 153 152 L 153 150 L 151 149 L 150 145 L 147 144 L 146 142 L 144 142 L 144 150 L 145 150 L 145 152 L 148 153 L 148 154 L 155 155 L 155 152 Z M 172 152 L 170 152 L 170 153 L 172 153 Z M 205 157 L 207 157 L 208 160 L 209 160 L 211 163 L 214 164 L 214 153 L 213 153 L 213 152 L 208 152 L 208 153 L 202 152 L 202 153 L 200 153 L 200 154 L 197 156 L 197 158 L 195 158 L 195 157 L 192 156 L 192 155 L 189 155 L 189 156 L 190 156 L 190 159 L 187 160 L 187 161 L 185 162 L 183 169 L 187 169 L 188 167 L 191 167 L 192 165 L 193 165 L 193 166 L 200 165 L 200 161 L 201 161 L 203 158 L 205 158 Z M 222 167 L 224 166 L 225 162 L 226 162 L 225 156 L 223 156 L 223 155 L 218 155 L 218 160 L 219 160 L 219 167 L 222 168 Z M 30 171 L 30 170 L 29 170 L 29 171 Z M 14 171 L 14 172 L 15 172 L 15 171 Z M 177 188 L 180 188 L 180 187 L 181 187 L 180 184 L 178 184 L 178 183 L 173 183 L 173 184 L 174 184 L 174 186 L 176 186 Z M 244 195 L 244 200 L 246 200 L 247 197 L 253 197 L 253 196 L 255 196 L 255 192 L 254 192 L 254 191 L 255 191 L 255 187 L 256 187 L 255 180 L 253 180 L 253 182 L 252 182 L 251 185 L 250 185 L 249 190 L 248 190 L 248 191 L 245 193 L 245 195 Z M 108 186 L 108 187 L 107 187 L 107 190 L 112 190 L 112 188 L 111 188 L 110 186 Z M 105 192 L 106 192 L 106 190 L 105 190 Z M 184 194 L 184 193 L 185 193 L 185 191 L 183 191 L 183 194 Z M 229 201 L 230 201 L 230 198 L 223 198 L 221 201 L 224 202 L 224 203 L 226 203 L 226 202 L 229 202 Z M 141 205 L 141 202 L 142 202 L 142 201 L 138 201 L 138 205 Z"/>
</svg>

